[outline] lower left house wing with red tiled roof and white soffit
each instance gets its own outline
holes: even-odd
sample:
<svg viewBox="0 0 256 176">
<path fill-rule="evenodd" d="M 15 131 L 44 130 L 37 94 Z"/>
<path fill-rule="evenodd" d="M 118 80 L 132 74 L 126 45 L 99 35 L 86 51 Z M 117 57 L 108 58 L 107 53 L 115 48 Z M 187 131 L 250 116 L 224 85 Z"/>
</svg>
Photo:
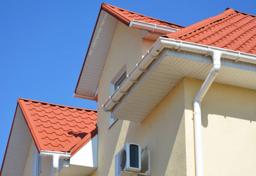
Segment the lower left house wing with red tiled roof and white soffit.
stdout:
<svg viewBox="0 0 256 176">
<path fill-rule="evenodd" d="M 0 175 L 90 175 L 97 130 L 95 110 L 19 98 Z"/>
</svg>

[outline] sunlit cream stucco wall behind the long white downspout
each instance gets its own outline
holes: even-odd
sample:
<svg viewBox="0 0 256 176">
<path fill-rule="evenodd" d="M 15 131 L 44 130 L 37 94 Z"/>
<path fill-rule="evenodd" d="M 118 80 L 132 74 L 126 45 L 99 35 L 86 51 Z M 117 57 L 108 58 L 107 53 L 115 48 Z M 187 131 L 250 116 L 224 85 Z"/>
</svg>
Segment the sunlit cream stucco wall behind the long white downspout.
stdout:
<svg viewBox="0 0 256 176">
<path fill-rule="evenodd" d="M 188 176 L 195 176 L 192 105 L 202 83 L 184 79 Z M 201 107 L 205 176 L 256 175 L 256 91 L 213 83 Z"/>
</svg>

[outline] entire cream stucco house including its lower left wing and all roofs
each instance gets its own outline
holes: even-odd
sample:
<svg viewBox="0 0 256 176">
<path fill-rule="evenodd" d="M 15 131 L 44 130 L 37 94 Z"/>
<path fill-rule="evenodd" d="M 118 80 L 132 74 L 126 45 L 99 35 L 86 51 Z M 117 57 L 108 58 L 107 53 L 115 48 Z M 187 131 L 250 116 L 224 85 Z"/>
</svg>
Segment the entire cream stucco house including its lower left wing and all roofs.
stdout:
<svg viewBox="0 0 256 176">
<path fill-rule="evenodd" d="M 183 27 L 102 3 L 74 91 L 97 111 L 19 98 L 0 175 L 115 176 L 127 143 L 123 176 L 256 175 L 255 64 L 255 15 Z"/>
</svg>

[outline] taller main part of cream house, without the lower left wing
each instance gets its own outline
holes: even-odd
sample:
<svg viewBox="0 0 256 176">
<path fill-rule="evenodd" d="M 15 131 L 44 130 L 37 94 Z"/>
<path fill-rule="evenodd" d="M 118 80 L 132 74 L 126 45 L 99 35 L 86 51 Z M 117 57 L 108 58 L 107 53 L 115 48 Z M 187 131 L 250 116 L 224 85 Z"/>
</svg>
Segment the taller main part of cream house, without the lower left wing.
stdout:
<svg viewBox="0 0 256 176">
<path fill-rule="evenodd" d="M 98 102 L 91 176 L 126 143 L 150 150 L 141 175 L 256 175 L 255 64 L 255 15 L 182 27 L 103 3 L 74 91 Z"/>
</svg>

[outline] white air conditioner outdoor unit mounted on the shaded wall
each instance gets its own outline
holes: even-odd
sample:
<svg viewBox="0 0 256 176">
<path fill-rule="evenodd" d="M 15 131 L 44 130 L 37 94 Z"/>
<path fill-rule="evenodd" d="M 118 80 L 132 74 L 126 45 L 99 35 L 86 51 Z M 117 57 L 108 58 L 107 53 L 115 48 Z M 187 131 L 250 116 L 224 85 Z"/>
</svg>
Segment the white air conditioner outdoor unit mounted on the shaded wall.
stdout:
<svg viewBox="0 0 256 176">
<path fill-rule="evenodd" d="M 141 171 L 141 145 L 127 143 L 115 155 L 115 176 L 136 176 Z M 129 173 L 128 173 L 129 172 Z"/>
</svg>

